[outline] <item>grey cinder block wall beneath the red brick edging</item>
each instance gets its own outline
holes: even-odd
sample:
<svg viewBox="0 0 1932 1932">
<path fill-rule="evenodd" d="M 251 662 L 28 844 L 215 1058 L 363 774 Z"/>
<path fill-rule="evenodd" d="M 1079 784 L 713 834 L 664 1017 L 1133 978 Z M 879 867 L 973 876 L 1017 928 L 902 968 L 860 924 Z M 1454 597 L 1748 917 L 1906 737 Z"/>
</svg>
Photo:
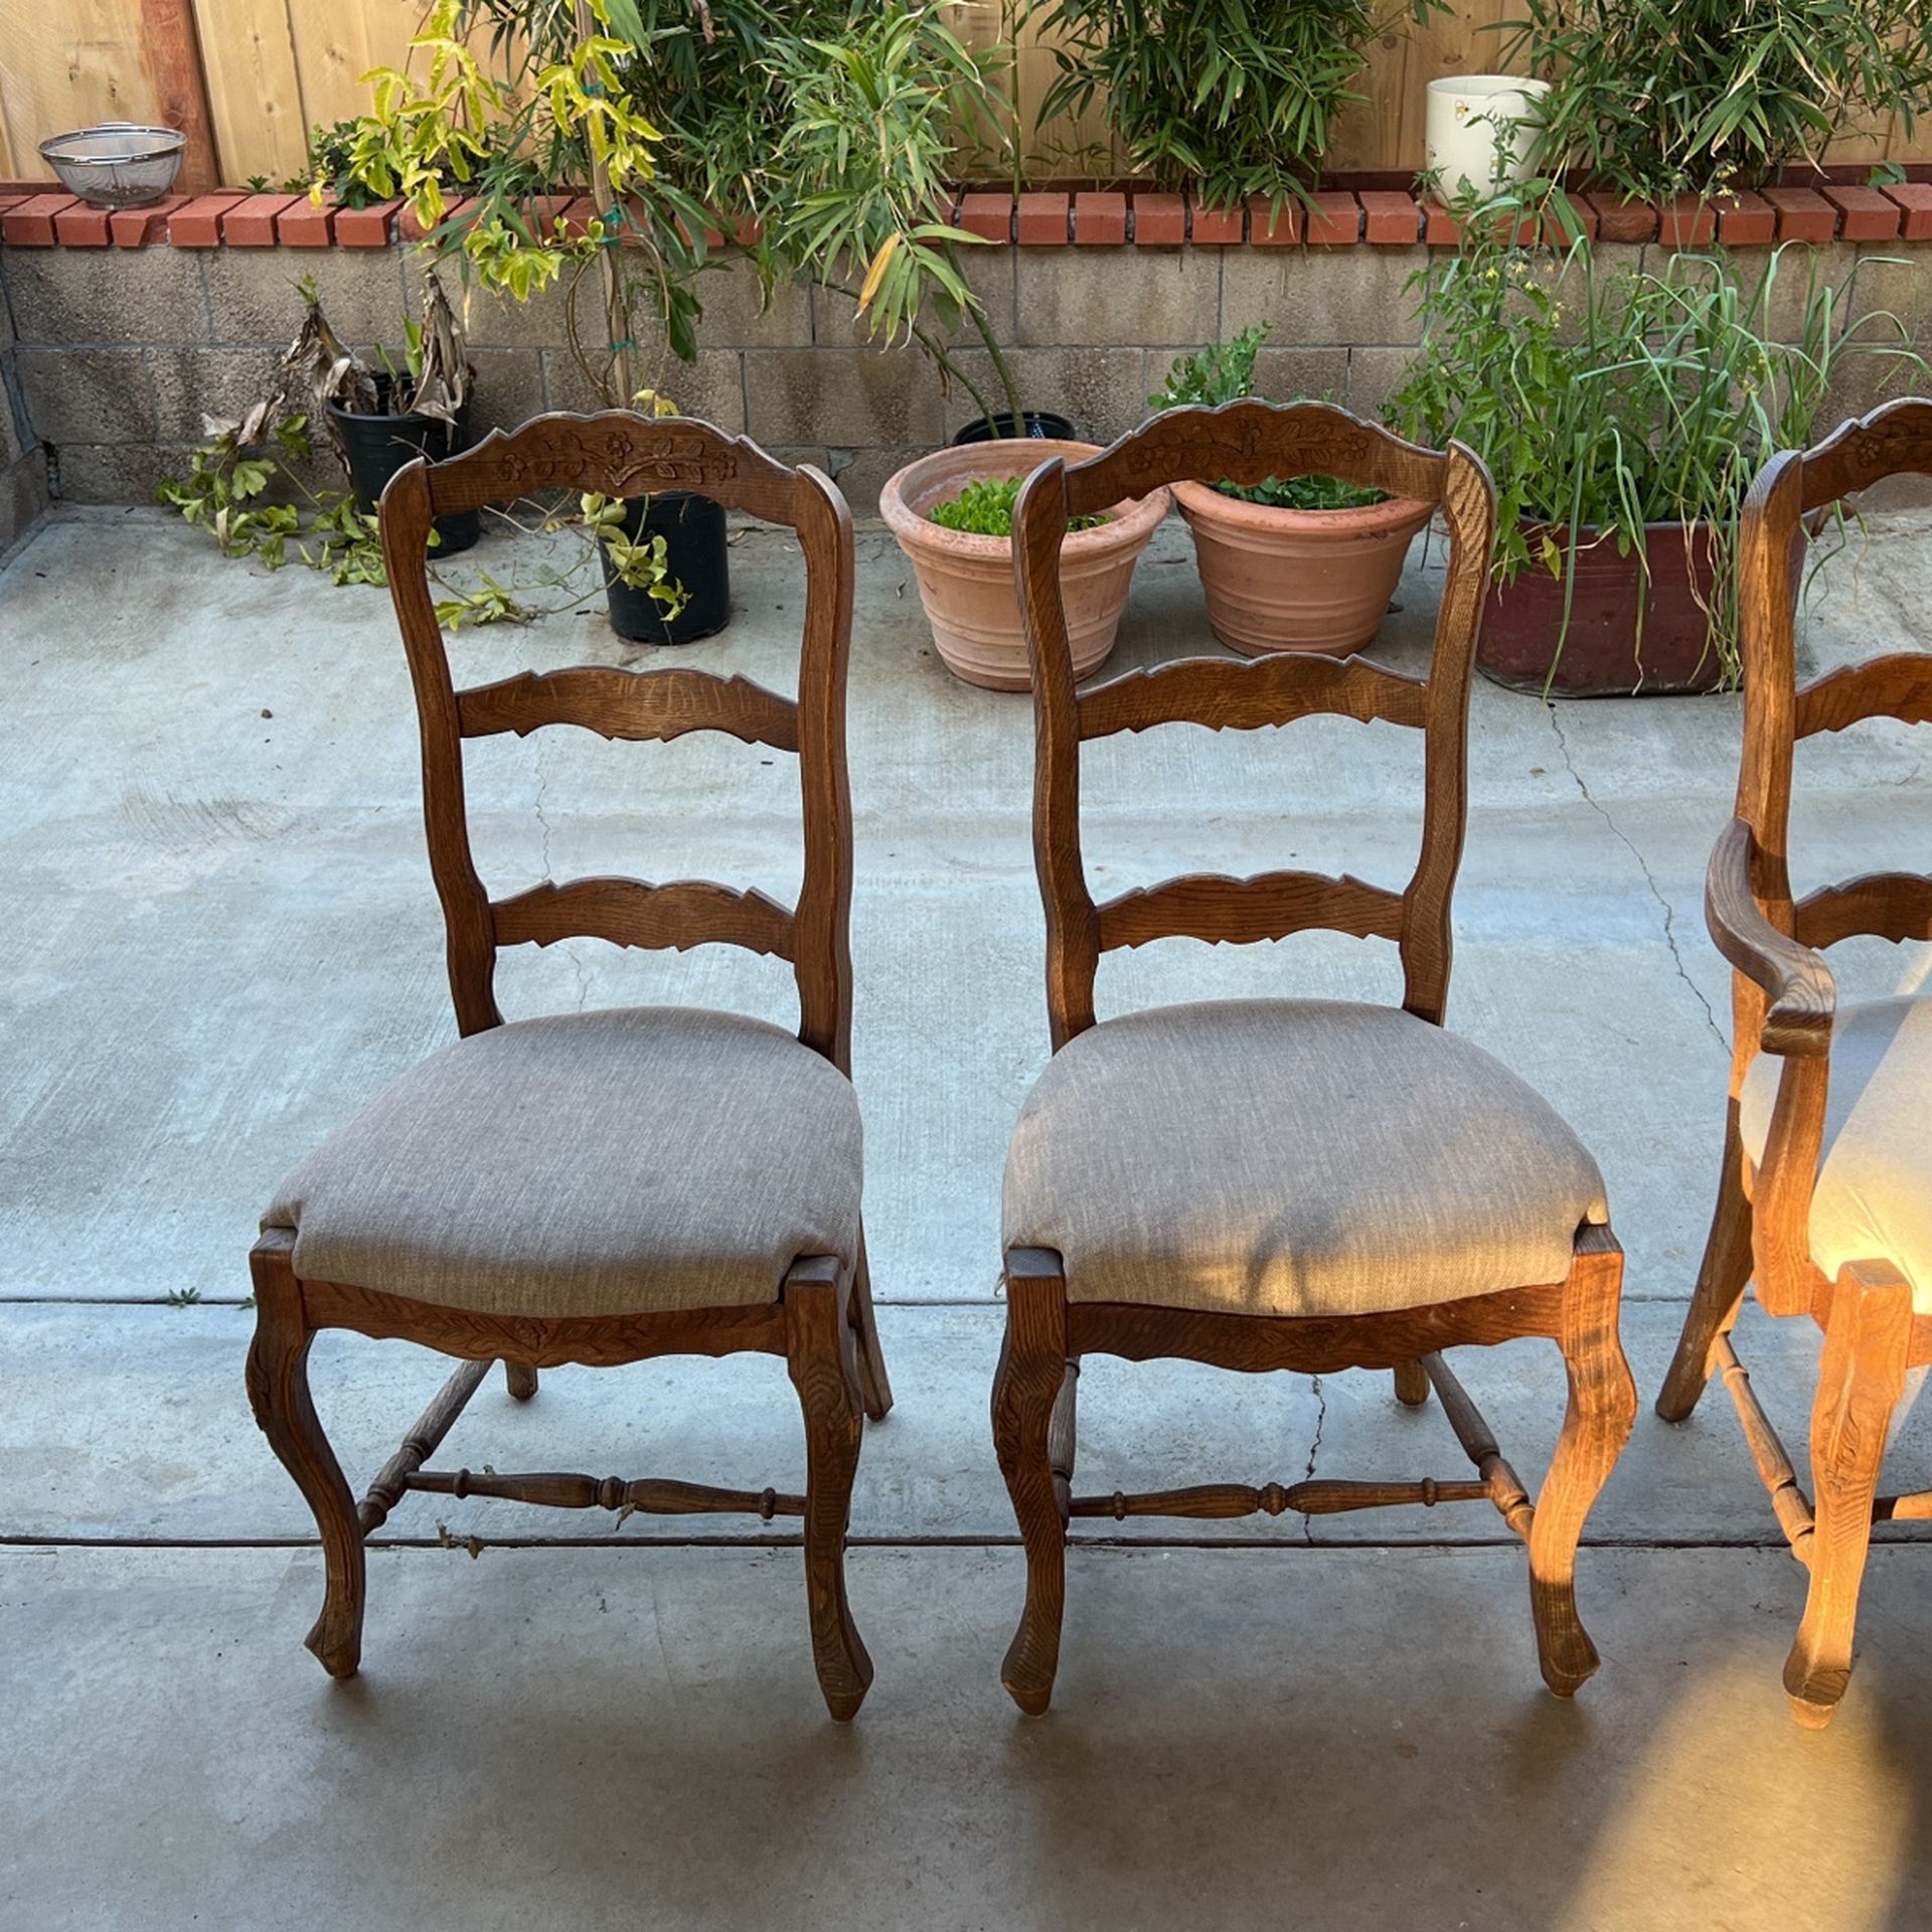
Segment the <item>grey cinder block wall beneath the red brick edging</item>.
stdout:
<svg viewBox="0 0 1932 1932">
<path fill-rule="evenodd" d="M 1600 242 L 1605 265 L 1662 259 L 1662 245 Z M 1818 247 L 1833 284 L 1859 274 L 1859 303 L 1913 319 L 1922 346 L 1932 276 L 1920 249 L 1835 238 Z M 1376 413 L 1416 342 L 1408 288 L 1437 251 L 1422 245 L 1196 245 L 974 249 L 968 269 L 1028 408 L 1070 415 L 1095 442 L 1122 435 L 1169 361 L 1265 321 L 1264 392 L 1325 396 Z M 1897 259 L 1888 259 L 1897 257 Z M 1756 272 L 1764 253 L 1743 255 Z M 203 417 L 238 417 L 272 381 L 313 274 L 336 330 L 359 348 L 402 342 L 415 313 L 417 255 L 379 247 L 6 247 L 0 286 L 17 344 L 0 350 L 15 408 L 0 419 L 0 541 L 6 493 L 33 504 L 41 464 L 56 498 L 145 502 L 185 468 Z M 1795 290 L 1789 325 L 1797 321 Z M 452 282 L 454 288 L 454 282 Z M 900 464 L 941 444 L 972 413 L 916 350 L 879 350 L 842 296 L 781 288 L 769 305 L 742 263 L 707 270 L 696 365 L 668 363 L 667 390 L 692 415 L 750 433 L 786 462 L 837 475 L 860 516 Z M 582 288 L 595 340 L 597 298 Z M 475 296 L 468 307 L 477 425 L 541 410 L 593 408 L 570 350 L 562 292 L 526 305 Z M 962 336 L 966 375 L 993 394 L 991 359 Z M 1899 392 L 1903 377 L 1864 365 L 1833 396 L 1826 423 Z M 995 402 L 997 406 L 997 402 Z M 19 475 L 15 475 L 19 473 Z M 15 518 L 19 510 L 15 508 Z"/>
</svg>

